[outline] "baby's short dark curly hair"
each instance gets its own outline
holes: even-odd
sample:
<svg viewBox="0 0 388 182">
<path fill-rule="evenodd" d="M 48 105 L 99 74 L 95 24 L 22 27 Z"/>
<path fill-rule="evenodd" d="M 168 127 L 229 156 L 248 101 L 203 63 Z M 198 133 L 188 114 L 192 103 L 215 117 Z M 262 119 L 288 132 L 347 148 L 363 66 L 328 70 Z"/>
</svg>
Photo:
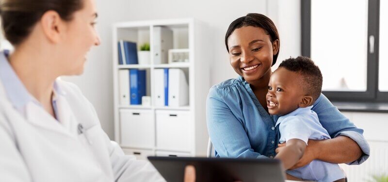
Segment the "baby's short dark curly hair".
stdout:
<svg viewBox="0 0 388 182">
<path fill-rule="evenodd" d="M 314 101 L 319 98 L 322 91 L 323 77 L 319 67 L 310 58 L 304 56 L 290 57 L 284 60 L 279 67 L 299 73 L 303 78 L 302 86 L 307 94 L 311 95 Z"/>
</svg>

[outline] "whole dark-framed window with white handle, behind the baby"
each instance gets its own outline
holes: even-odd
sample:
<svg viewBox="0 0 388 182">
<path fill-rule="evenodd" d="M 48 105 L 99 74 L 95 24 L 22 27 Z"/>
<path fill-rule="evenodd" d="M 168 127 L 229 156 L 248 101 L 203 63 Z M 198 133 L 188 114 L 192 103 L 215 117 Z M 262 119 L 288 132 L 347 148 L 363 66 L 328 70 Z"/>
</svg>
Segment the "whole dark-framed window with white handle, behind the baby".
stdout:
<svg viewBox="0 0 388 182">
<path fill-rule="evenodd" d="M 326 97 L 388 101 L 388 51 L 379 53 L 388 50 L 388 1 L 302 0 L 301 5 L 302 55 L 320 67 Z"/>
</svg>

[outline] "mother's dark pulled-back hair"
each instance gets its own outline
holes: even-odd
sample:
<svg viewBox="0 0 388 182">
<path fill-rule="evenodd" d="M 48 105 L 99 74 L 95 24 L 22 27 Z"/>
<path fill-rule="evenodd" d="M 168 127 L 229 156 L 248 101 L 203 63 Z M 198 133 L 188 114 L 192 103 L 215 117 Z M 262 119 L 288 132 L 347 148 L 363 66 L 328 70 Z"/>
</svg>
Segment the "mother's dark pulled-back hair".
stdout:
<svg viewBox="0 0 388 182">
<path fill-rule="evenodd" d="M 275 65 L 277 60 L 277 55 L 279 55 L 280 50 L 280 38 L 279 33 L 277 32 L 276 26 L 274 22 L 265 15 L 258 14 L 258 13 L 249 13 L 244 17 L 239 17 L 236 20 L 234 20 L 232 23 L 230 23 L 229 28 L 226 31 L 225 35 L 225 45 L 226 50 L 229 52 L 229 47 L 227 46 L 227 40 L 229 36 L 234 32 L 234 30 L 241 28 L 241 27 L 259 27 L 264 29 L 264 31 L 270 35 L 271 43 L 274 43 L 275 40 L 279 41 L 279 48 L 277 50 L 277 54 L 274 55 L 272 60 L 272 66 Z"/>
</svg>

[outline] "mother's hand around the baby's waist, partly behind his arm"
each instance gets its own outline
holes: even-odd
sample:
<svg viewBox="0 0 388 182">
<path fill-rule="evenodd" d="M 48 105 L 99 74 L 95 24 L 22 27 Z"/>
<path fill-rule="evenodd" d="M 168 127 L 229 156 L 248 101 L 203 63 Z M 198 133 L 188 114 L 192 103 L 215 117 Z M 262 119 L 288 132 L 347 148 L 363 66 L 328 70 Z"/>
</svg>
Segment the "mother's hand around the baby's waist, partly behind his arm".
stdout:
<svg viewBox="0 0 388 182">
<path fill-rule="evenodd" d="M 319 150 L 318 149 L 319 146 L 317 145 L 318 142 L 319 142 L 318 140 L 308 140 L 307 147 L 305 149 L 305 152 L 303 153 L 302 158 L 300 158 L 299 161 L 290 168 L 290 170 L 308 165 L 311 163 L 311 161 L 317 159 L 316 151 Z M 284 147 L 286 147 L 286 142 L 282 144 L 278 144 L 277 146 L 278 147 L 275 150 L 275 152 L 279 153 L 279 151 L 281 151 L 282 149 L 284 149 Z"/>
</svg>

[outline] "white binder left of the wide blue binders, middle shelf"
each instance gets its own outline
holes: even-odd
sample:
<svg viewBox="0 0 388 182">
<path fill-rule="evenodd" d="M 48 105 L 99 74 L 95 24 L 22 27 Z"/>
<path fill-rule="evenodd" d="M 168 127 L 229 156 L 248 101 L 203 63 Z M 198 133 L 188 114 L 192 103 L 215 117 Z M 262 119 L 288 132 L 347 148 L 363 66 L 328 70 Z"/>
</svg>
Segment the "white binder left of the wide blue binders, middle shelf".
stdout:
<svg viewBox="0 0 388 182">
<path fill-rule="evenodd" d="M 118 70 L 120 105 L 129 105 L 129 69 Z"/>
</svg>

